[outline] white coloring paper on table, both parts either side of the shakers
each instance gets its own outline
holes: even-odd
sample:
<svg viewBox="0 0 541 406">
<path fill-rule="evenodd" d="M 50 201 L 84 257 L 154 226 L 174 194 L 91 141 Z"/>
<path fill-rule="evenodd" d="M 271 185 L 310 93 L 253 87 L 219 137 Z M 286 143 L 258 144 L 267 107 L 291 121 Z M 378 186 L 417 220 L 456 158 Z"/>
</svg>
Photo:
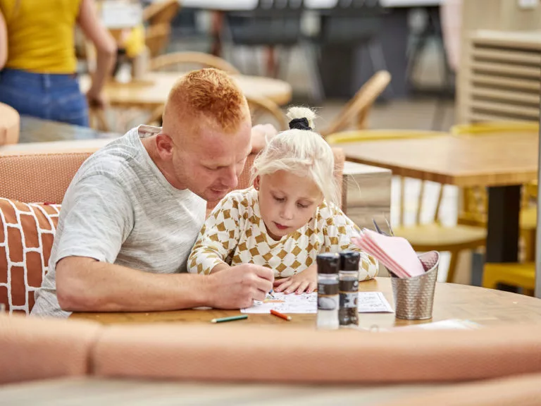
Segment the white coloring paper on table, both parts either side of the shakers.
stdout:
<svg viewBox="0 0 541 406">
<path fill-rule="evenodd" d="M 284 314 L 314 314 L 318 312 L 318 294 L 301 293 L 285 295 L 273 293 L 264 302 L 256 300 L 252 307 L 241 309 L 241 313 L 270 313 L 270 310 Z M 381 292 L 359 292 L 359 313 L 393 313 L 393 309 Z"/>
</svg>

